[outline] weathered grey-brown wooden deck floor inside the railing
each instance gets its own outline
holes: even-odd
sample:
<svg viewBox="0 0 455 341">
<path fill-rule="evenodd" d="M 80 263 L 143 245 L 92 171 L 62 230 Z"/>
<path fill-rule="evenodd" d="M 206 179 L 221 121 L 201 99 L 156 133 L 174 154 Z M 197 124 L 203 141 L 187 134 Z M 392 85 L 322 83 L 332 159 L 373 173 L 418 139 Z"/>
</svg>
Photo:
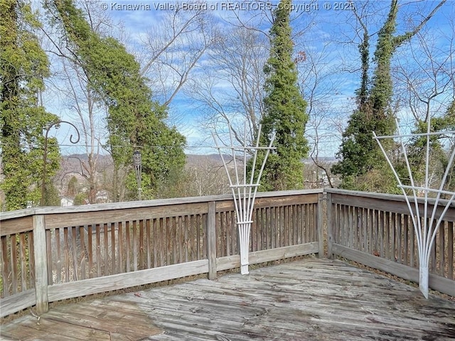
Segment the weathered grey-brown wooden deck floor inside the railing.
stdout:
<svg viewBox="0 0 455 341">
<path fill-rule="evenodd" d="M 455 340 L 455 301 L 342 261 L 304 259 L 1 325 L 1 340 Z"/>
</svg>

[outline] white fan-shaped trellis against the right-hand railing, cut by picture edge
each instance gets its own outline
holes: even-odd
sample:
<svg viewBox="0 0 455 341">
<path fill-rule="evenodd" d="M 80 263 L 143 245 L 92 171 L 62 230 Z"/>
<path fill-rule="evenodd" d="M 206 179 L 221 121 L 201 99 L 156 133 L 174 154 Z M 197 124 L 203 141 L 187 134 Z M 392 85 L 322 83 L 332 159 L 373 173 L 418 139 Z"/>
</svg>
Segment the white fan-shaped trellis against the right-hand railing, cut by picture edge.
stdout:
<svg viewBox="0 0 455 341">
<path fill-rule="evenodd" d="M 382 153 L 384 154 L 385 158 L 387 159 L 387 163 L 389 163 L 390 168 L 395 175 L 395 178 L 398 182 L 398 187 L 401 188 L 403 195 L 405 195 L 405 199 L 407 202 L 407 207 L 410 210 L 410 215 L 412 217 L 412 224 L 414 225 L 415 236 L 417 238 L 417 249 L 419 251 L 419 289 L 424 294 L 425 298 L 428 298 L 428 278 L 429 278 L 429 257 L 430 252 L 432 250 L 434 239 L 436 238 L 437 231 L 439 229 L 439 225 L 441 224 L 444 215 L 446 214 L 447 210 L 449 209 L 452 202 L 454 202 L 455 192 L 449 190 L 443 190 L 444 183 L 446 182 L 447 175 L 451 168 L 454 166 L 454 158 L 455 158 L 455 146 L 453 151 L 451 152 L 449 163 L 447 164 L 446 171 L 444 172 L 444 176 L 441 180 L 441 185 L 439 188 L 430 188 L 429 187 L 429 139 L 432 135 L 441 135 L 441 134 L 454 134 L 455 131 L 444 131 L 444 132 L 432 132 L 430 130 L 430 118 L 427 121 L 427 133 L 424 134 L 409 134 L 403 135 L 400 132 L 400 126 L 398 126 L 398 121 L 395 121 L 397 124 L 397 135 L 393 136 L 376 136 L 373 132 L 373 138 L 378 142 Z M 426 136 L 427 137 L 427 148 L 425 153 L 425 180 L 423 186 L 417 186 L 414 183 L 414 178 L 412 176 L 412 171 L 410 167 L 409 160 L 407 158 L 407 152 L 405 148 L 405 143 L 403 138 L 405 137 L 412 137 L 412 136 Z M 398 176 L 397 172 L 395 171 L 390 158 L 385 153 L 382 144 L 380 143 L 380 139 L 400 139 L 400 144 L 402 148 L 403 155 L 405 157 L 407 172 L 410 175 L 410 183 L 411 185 L 403 185 L 400 177 Z M 408 195 L 406 190 L 412 190 L 412 195 Z M 423 221 L 422 216 L 419 210 L 419 202 L 417 198 L 419 197 L 418 192 L 422 191 L 424 194 L 424 215 Z M 429 217 L 429 208 L 428 208 L 428 195 L 429 193 L 437 193 L 436 198 L 434 200 L 434 207 L 431 213 L 431 217 Z M 446 203 L 444 210 L 441 212 L 439 219 L 436 217 L 437 208 L 439 202 L 441 200 L 441 195 L 449 195 L 450 199 Z M 409 197 L 414 197 L 414 207 L 411 205 Z"/>
</svg>

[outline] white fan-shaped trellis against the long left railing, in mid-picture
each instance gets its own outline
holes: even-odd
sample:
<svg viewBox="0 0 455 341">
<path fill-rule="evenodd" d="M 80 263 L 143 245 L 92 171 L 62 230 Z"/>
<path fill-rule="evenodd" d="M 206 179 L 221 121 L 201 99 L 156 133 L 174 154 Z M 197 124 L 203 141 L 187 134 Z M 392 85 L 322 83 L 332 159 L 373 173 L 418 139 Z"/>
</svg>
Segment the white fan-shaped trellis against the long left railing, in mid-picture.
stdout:
<svg viewBox="0 0 455 341">
<path fill-rule="evenodd" d="M 229 136 L 230 136 L 230 146 L 220 146 L 218 144 L 217 136 L 213 134 L 213 140 L 215 141 L 215 148 L 218 149 L 221 159 L 223 160 L 223 165 L 225 166 L 226 174 L 228 175 L 230 189 L 232 191 L 232 197 L 234 198 L 235 206 L 235 215 L 237 220 L 238 232 L 239 232 L 239 247 L 240 247 L 240 274 L 248 274 L 248 251 L 250 245 L 250 230 L 252 224 L 252 214 L 253 207 L 255 205 L 255 198 L 257 193 L 257 188 L 259 187 L 259 181 L 261 179 L 262 171 L 264 170 L 267 157 L 269 152 L 274 149 L 272 144 L 275 139 L 275 135 L 270 139 L 270 144 L 267 147 L 259 147 L 259 137 L 261 136 L 261 126 L 257 133 L 256 146 L 246 146 L 246 126 L 245 126 L 245 138 L 243 146 L 234 146 L 232 142 L 232 135 L 234 134 L 231 126 L 229 126 Z M 228 164 L 221 152 L 222 149 L 229 149 L 232 153 L 232 162 L 234 163 L 234 173 L 235 180 L 232 181 L 231 175 L 228 170 Z M 255 178 L 256 162 L 257 162 L 257 152 L 261 149 L 266 150 L 264 160 L 262 161 L 262 166 L 259 169 L 257 178 Z M 240 151 L 240 155 L 237 155 L 237 152 Z M 252 153 L 252 169 L 250 174 L 249 182 L 247 183 L 247 161 L 248 156 Z M 243 161 L 243 174 L 239 172 L 237 168 L 237 158 L 241 158 Z M 243 175 L 240 178 L 240 175 Z"/>
</svg>

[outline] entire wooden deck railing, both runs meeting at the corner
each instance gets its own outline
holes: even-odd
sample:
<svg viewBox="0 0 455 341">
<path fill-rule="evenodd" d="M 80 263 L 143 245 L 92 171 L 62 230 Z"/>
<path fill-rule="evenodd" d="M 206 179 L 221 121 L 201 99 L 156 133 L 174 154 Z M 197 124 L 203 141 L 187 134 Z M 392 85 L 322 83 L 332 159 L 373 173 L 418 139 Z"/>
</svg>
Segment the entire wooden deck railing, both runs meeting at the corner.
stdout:
<svg viewBox="0 0 455 341">
<path fill-rule="evenodd" d="M 403 197 L 346 190 L 258 193 L 250 264 L 328 255 L 418 281 L 414 229 Z M 0 216 L 1 317 L 36 305 L 240 266 L 230 195 L 77 207 Z M 455 296 L 455 204 L 432 254 L 430 288 Z"/>
</svg>

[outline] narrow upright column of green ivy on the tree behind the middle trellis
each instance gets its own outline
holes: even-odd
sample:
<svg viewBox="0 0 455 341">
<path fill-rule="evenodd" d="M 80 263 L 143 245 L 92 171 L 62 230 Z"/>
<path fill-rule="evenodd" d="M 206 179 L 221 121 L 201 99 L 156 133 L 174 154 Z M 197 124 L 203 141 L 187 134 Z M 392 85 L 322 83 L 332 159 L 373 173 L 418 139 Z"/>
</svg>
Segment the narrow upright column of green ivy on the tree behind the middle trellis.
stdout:
<svg viewBox="0 0 455 341">
<path fill-rule="evenodd" d="M 293 41 L 289 15 L 290 0 L 282 0 L 274 11 L 270 30 L 272 47 L 264 65 L 264 114 L 262 115 L 263 146 L 276 134 L 274 146 L 262 174 L 262 190 L 290 190 L 304 187 L 303 159 L 308 153 L 304 137 L 308 115 L 306 102 L 297 87 L 296 65 L 292 58 Z M 259 155 L 258 164 L 264 154 Z"/>
</svg>

